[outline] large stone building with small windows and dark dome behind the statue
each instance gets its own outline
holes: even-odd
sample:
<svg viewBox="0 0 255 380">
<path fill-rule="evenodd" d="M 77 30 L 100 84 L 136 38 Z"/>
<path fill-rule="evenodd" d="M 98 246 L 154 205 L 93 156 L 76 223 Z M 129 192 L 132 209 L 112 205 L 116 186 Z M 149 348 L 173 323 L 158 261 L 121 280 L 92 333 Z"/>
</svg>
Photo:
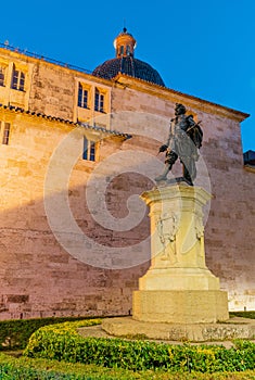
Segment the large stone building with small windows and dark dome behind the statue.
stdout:
<svg viewBox="0 0 255 380">
<path fill-rule="evenodd" d="M 112 61 L 126 68 L 112 77 L 107 64 L 91 75 L 0 49 L 1 319 L 131 313 L 150 266 L 135 195 L 154 186 L 177 102 L 204 131 L 195 185 L 213 194 L 207 265 L 230 309 L 255 309 L 255 173 L 240 134 L 248 115 L 166 88 L 120 35 Z"/>
</svg>

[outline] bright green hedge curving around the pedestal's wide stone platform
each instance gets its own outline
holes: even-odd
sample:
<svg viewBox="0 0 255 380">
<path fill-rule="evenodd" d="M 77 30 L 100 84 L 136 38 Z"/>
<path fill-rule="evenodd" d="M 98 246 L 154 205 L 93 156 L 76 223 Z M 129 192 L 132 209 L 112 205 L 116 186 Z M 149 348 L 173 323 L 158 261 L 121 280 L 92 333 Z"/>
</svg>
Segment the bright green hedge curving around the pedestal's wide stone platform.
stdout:
<svg viewBox="0 0 255 380">
<path fill-rule="evenodd" d="M 87 320 L 43 327 L 30 337 L 24 355 L 131 370 L 161 368 L 180 372 L 216 372 L 255 369 L 255 344 L 248 341 L 237 340 L 235 346 L 227 350 L 222 345 L 169 345 L 84 338 L 77 328 L 88 324 Z"/>
</svg>

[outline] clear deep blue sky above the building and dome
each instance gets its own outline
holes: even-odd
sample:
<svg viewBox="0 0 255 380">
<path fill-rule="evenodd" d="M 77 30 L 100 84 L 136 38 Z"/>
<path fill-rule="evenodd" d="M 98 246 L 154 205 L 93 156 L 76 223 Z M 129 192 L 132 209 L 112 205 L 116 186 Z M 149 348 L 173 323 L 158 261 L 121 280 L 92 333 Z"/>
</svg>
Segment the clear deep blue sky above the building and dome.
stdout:
<svg viewBox="0 0 255 380">
<path fill-rule="evenodd" d="M 243 150 L 255 150 L 255 0 L 13 0 L 0 41 L 92 71 L 124 21 L 167 87 L 250 113 Z"/>
</svg>

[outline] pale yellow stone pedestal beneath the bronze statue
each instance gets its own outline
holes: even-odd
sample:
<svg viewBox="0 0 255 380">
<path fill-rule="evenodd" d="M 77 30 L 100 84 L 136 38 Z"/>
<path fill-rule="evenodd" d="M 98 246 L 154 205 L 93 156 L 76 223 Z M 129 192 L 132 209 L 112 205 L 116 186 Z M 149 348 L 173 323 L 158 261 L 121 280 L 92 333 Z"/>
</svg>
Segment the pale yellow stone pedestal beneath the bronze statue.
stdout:
<svg viewBox="0 0 255 380">
<path fill-rule="evenodd" d="M 227 320 L 227 292 L 205 264 L 203 206 L 211 194 L 180 182 L 141 198 L 150 206 L 152 259 L 133 292 L 132 318 L 173 324 Z"/>
</svg>

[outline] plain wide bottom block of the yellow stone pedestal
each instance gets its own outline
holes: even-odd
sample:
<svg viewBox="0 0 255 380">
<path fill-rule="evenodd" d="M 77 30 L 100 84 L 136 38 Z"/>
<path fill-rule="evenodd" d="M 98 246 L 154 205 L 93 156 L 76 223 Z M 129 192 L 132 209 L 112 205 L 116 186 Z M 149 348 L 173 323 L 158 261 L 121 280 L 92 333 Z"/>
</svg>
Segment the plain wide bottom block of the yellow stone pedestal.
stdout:
<svg viewBox="0 0 255 380">
<path fill-rule="evenodd" d="M 216 324 L 229 318 L 228 295 L 220 290 L 138 290 L 132 317 L 167 324 Z"/>
</svg>

